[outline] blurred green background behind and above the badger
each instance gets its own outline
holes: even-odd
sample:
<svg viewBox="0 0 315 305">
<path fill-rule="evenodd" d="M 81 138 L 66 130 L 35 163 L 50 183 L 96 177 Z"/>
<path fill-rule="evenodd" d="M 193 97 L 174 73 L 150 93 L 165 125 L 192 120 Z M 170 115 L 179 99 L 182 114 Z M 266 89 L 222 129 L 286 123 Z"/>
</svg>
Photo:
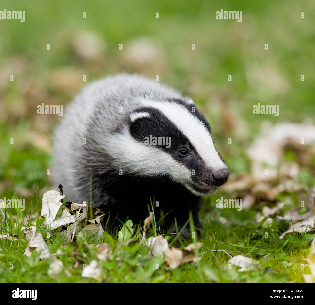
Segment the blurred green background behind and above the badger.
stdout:
<svg viewBox="0 0 315 305">
<path fill-rule="evenodd" d="M 4 8 L 26 16 L 24 23 L 0 20 L 2 197 L 29 202 L 34 183 L 39 196 L 51 187 L 60 117 L 37 114 L 37 105 L 66 111 L 80 88 L 110 74 L 159 75 L 190 95 L 231 173 L 249 172 L 245 150 L 263 121 L 315 123 L 314 1 L 3 0 Z M 222 8 L 242 10 L 242 22 L 217 20 Z M 253 115 L 258 103 L 279 105 L 279 116 Z"/>
</svg>

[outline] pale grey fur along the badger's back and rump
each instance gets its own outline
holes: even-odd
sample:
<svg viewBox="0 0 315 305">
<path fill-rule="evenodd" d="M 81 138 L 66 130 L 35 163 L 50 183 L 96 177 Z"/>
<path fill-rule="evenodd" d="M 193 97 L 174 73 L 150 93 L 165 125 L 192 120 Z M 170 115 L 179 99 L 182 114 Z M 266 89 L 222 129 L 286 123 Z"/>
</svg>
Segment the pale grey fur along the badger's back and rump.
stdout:
<svg viewBox="0 0 315 305">
<path fill-rule="evenodd" d="M 52 175 L 55 187 L 61 183 L 69 200 L 78 203 L 86 200 L 77 185 L 80 168 L 75 163 L 79 156 L 82 157 L 83 138 L 93 137 L 98 143 L 106 142 L 106 135 L 126 125 L 129 113 L 142 106 L 144 98 L 147 101 L 188 100 L 157 81 L 135 74 L 119 74 L 85 86 L 66 106 L 54 133 Z M 88 130 L 88 126 L 92 128 Z"/>
</svg>

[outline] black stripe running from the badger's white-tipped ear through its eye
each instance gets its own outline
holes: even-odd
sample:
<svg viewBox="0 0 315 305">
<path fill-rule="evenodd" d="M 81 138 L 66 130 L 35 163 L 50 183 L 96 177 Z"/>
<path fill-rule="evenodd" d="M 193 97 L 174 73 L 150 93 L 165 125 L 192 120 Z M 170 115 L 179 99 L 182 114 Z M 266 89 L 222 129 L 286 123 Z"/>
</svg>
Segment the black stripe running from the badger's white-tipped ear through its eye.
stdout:
<svg viewBox="0 0 315 305">
<path fill-rule="evenodd" d="M 167 116 L 154 107 L 141 107 L 135 112 L 147 112 L 148 117 L 140 117 L 130 123 L 130 134 L 137 140 L 145 144 L 145 137 L 170 137 L 170 146 L 152 145 L 157 149 L 162 149 L 173 157 L 173 159 L 185 165 L 189 170 L 201 171 L 205 165 L 189 139 L 169 120 Z M 146 138 L 147 139 L 147 138 Z M 161 144 L 161 143 L 160 143 Z M 186 148 L 193 152 L 194 157 L 178 157 L 178 150 Z"/>
</svg>

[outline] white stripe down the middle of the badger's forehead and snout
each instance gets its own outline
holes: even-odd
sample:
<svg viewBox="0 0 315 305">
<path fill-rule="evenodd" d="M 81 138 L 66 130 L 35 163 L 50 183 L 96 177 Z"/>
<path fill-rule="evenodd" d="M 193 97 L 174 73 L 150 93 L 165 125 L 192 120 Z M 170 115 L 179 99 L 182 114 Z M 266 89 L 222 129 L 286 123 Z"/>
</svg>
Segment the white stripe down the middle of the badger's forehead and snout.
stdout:
<svg viewBox="0 0 315 305">
<path fill-rule="evenodd" d="M 150 101 L 146 104 L 163 112 L 178 127 L 186 138 L 189 139 L 206 166 L 212 167 L 214 170 L 227 168 L 215 149 L 208 129 L 187 108 L 175 102 Z M 195 105 L 191 104 L 191 106 Z"/>
</svg>

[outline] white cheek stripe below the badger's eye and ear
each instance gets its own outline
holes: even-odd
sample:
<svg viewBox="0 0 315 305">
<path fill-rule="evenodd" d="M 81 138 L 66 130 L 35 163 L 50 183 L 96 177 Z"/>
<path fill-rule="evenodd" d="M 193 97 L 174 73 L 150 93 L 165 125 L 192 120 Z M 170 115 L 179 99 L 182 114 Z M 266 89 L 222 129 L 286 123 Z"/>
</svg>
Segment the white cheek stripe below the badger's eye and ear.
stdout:
<svg viewBox="0 0 315 305">
<path fill-rule="evenodd" d="M 110 145 L 104 143 L 104 147 L 115 158 L 118 168 L 147 177 L 169 174 L 179 183 L 191 178 L 186 166 L 174 161 L 165 151 L 135 140 L 128 130 L 110 136 L 108 141 Z"/>
</svg>

